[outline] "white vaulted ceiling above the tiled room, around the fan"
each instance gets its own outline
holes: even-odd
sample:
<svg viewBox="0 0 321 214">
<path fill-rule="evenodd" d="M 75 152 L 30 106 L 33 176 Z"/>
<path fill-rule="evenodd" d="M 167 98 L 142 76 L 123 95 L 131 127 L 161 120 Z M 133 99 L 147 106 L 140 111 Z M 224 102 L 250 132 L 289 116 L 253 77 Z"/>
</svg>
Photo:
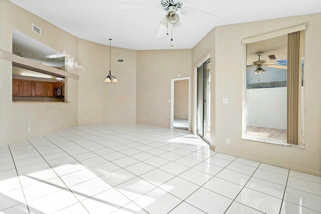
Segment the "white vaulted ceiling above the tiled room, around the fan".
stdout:
<svg viewBox="0 0 321 214">
<path fill-rule="evenodd" d="M 218 16 L 181 15 L 182 26 L 170 37 L 156 38 L 162 9 L 121 10 L 120 4 L 160 4 L 161 0 L 9 0 L 57 27 L 99 44 L 133 50 L 193 48 L 215 26 L 321 12 L 320 0 L 183 0 L 190 7 Z M 38 23 L 35 23 L 38 27 Z"/>
</svg>

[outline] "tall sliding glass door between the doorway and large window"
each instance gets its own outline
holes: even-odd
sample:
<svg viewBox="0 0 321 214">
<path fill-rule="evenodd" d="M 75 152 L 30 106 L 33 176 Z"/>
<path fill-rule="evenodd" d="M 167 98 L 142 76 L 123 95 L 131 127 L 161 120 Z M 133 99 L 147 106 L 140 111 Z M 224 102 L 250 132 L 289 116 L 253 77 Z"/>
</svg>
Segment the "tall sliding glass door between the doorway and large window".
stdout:
<svg viewBox="0 0 321 214">
<path fill-rule="evenodd" d="M 197 133 L 210 141 L 211 133 L 211 71 L 210 60 L 197 70 Z"/>
</svg>

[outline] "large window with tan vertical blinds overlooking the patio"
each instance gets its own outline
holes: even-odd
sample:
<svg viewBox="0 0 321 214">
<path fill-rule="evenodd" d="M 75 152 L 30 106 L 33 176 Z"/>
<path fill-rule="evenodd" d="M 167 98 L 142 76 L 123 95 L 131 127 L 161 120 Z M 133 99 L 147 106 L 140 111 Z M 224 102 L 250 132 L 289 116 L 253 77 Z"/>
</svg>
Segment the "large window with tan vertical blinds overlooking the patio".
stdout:
<svg viewBox="0 0 321 214">
<path fill-rule="evenodd" d="M 246 44 L 243 138 L 303 144 L 303 32 Z"/>
</svg>

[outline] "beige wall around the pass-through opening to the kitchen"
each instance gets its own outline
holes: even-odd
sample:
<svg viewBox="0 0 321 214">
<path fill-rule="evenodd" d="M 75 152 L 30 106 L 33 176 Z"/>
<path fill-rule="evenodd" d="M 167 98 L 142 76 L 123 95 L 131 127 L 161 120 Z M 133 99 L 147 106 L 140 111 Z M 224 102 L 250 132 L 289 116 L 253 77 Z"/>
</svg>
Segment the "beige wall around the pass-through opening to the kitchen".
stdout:
<svg viewBox="0 0 321 214">
<path fill-rule="evenodd" d="M 12 53 L 12 32 L 16 29 L 77 61 L 78 39 L 26 10 L 0 0 L 0 20 L 1 50 Z M 41 36 L 31 30 L 32 23 L 42 29 Z M 75 68 L 68 72 L 78 73 Z M 78 81 L 67 81 L 70 103 L 13 103 L 12 62 L 0 59 L 0 146 L 77 125 Z"/>
</svg>

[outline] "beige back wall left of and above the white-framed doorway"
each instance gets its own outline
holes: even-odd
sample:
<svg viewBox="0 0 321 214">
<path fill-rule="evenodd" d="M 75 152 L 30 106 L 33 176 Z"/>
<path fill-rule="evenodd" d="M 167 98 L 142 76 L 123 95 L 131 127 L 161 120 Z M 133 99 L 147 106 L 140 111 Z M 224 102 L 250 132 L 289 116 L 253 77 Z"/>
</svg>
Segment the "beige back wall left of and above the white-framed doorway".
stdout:
<svg viewBox="0 0 321 214">
<path fill-rule="evenodd" d="M 171 79 L 190 77 L 191 60 L 191 49 L 137 51 L 137 123 L 170 127 Z"/>
</svg>

